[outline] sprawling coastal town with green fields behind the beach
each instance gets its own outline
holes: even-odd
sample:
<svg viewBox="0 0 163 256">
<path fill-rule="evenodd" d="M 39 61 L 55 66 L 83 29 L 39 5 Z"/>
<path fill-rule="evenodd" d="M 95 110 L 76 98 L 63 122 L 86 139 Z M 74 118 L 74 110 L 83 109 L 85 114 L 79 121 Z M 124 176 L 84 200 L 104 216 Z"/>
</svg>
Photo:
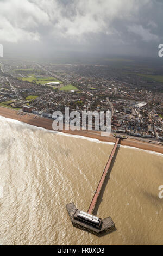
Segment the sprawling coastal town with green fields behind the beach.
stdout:
<svg viewBox="0 0 163 256">
<path fill-rule="evenodd" d="M 52 119 L 54 111 L 111 111 L 111 132 L 163 141 L 163 81 L 135 66 L 3 60 L 0 105 Z M 146 75 L 144 75 L 146 72 Z"/>
</svg>

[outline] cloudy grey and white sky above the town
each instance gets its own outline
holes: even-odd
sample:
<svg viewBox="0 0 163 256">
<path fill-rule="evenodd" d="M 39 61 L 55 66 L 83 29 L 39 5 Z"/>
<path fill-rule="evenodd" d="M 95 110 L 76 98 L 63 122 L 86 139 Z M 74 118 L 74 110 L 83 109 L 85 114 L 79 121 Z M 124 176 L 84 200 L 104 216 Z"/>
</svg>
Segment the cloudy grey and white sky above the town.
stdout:
<svg viewBox="0 0 163 256">
<path fill-rule="evenodd" d="M 0 0 L 4 53 L 158 56 L 162 0 Z"/>
</svg>

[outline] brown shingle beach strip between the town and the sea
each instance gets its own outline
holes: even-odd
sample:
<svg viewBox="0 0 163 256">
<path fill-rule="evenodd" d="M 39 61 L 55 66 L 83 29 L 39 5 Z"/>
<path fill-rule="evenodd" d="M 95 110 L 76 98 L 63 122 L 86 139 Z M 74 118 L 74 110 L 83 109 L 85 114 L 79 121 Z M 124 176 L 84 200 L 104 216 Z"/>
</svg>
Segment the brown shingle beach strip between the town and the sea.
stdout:
<svg viewBox="0 0 163 256">
<path fill-rule="evenodd" d="M 30 125 L 34 125 L 37 127 L 41 127 L 41 128 L 53 131 L 53 128 L 52 128 L 53 120 L 48 118 L 39 117 L 38 115 L 30 114 L 27 112 L 19 112 L 19 111 L 16 111 L 15 109 L 9 109 L 5 107 L 0 107 L 0 115 L 5 118 L 15 119 L 23 123 L 27 123 Z M 114 136 L 112 135 L 107 137 L 101 136 L 100 131 L 61 130 L 58 132 L 98 139 L 99 141 L 102 141 L 102 142 L 116 142 L 116 138 Z M 135 148 L 154 151 L 154 152 L 163 154 L 162 145 L 140 141 L 139 139 L 127 138 L 127 139 L 121 140 L 120 144 L 128 147 L 135 147 Z"/>
</svg>

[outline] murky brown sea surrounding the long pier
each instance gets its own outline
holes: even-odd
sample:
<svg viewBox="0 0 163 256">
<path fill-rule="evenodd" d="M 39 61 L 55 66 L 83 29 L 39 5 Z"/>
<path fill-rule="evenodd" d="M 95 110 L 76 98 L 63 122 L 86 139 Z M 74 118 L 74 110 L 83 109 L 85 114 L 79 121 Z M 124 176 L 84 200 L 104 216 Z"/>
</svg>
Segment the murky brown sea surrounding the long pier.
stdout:
<svg viewBox="0 0 163 256">
<path fill-rule="evenodd" d="M 161 154 L 118 149 L 96 208 L 117 230 L 96 237 L 72 226 L 65 204 L 89 208 L 112 144 L 3 117 L 0 132 L 1 245 L 163 244 Z"/>
</svg>

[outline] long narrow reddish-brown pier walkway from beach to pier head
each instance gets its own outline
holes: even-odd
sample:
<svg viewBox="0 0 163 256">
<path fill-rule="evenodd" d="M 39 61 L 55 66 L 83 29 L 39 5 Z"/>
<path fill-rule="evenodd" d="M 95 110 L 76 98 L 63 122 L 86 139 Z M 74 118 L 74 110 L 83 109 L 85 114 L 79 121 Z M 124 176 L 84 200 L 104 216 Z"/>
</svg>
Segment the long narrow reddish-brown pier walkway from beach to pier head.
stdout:
<svg viewBox="0 0 163 256">
<path fill-rule="evenodd" d="M 103 186 L 104 180 L 105 180 L 106 175 L 107 175 L 107 173 L 108 173 L 108 170 L 109 170 L 111 161 L 112 161 L 112 159 L 113 159 L 113 157 L 114 157 L 114 154 L 115 154 L 115 151 L 116 151 L 116 148 L 117 148 L 117 145 L 118 145 L 118 142 L 119 142 L 119 141 L 120 141 L 120 138 L 117 138 L 116 143 L 115 143 L 115 145 L 114 145 L 114 148 L 112 149 L 111 154 L 110 154 L 110 156 L 109 156 L 109 160 L 108 160 L 108 162 L 106 163 L 104 172 L 103 172 L 103 174 L 102 174 L 102 176 L 101 176 L 101 179 L 100 179 L 100 181 L 99 181 L 99 183 L 98 183 L 98 186 L 97 186 L 97 188 L 96 188 L 95 194 L 94 194 L 94 196 L 93 196 L 93 198 L 92 198 L 92 201 L 91 201 L 89 210 L 87 211 L 88 214 L 92 214 L 93 209 L 95 208 L 95 205 L 96 205 L 96 202 L 97 202 L 99 193 L 100 193 L 101 188 L 102 188 L 102 186 Z"/>
</svg>

